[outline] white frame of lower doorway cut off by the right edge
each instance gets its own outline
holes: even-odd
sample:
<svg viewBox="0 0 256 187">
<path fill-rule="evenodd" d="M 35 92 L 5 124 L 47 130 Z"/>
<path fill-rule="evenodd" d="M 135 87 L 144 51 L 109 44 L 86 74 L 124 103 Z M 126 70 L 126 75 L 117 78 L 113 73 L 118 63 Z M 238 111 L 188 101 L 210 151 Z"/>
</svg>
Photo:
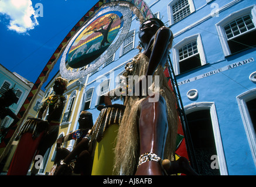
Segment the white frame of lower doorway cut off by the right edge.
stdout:
<svg viewBox="0 0 256 187">
<path fill-rule="evenodd" d="M 250 113 L 248 111 L 247 104 L 246 104 L 247 101 L 250 101 L 251 99 L 255 99 L 255 92 L 256 92 L 256 88 L 250 91 L 241 93 L 240 95 L 237 96 L 237 102 L 238 102 L 239 110 L 243 120 L 245 133 L 251 149 L 252 158 L 256 166 L 256 134 L 255 134 L 255 130 L 251 122 Z"/>
</svg>

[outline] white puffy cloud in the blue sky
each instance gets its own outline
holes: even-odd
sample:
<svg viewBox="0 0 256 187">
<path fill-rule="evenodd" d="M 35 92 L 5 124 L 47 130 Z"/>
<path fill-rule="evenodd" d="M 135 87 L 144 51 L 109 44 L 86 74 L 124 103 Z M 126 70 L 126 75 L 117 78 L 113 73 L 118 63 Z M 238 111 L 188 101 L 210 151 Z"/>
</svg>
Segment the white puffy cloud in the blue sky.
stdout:
<svg viewBox="0 0 256 187">
<path fill-rule="evenodd" d="M 30 0 L 0 0 L 0 14 L 8 15 L 8 29 L 26 33 L 39 25 Z"/>
</svg>

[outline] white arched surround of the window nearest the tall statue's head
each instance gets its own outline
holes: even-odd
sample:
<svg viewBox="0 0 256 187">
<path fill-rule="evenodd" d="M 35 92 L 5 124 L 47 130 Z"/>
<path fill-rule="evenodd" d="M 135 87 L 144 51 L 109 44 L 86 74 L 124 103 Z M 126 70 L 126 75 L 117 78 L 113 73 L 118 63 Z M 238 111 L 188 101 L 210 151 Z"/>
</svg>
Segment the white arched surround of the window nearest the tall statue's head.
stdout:
<svg viewBox="0 0 256 187">
<path fill-rule="evenodd" d="M 196 40 L 197 42 L 197 51 L 200 56 L 201 65 L 206 64 L 206 56 L 204 54 L 203 49 L 203 43 L 202 38 L 200 34 L 194 34 L 193 36 L 186 37 L 179 43 L 175 44 L 175 46 L 172 47 L 172 54 L 173 54 L 173 68 L 175 71 L 175 75 L 180 74 L 180 68 L 179 68 L 179 49 L 183 46 L 185 46 L 187 43 L 190 43 L 192 41 Z"/>
</svg>

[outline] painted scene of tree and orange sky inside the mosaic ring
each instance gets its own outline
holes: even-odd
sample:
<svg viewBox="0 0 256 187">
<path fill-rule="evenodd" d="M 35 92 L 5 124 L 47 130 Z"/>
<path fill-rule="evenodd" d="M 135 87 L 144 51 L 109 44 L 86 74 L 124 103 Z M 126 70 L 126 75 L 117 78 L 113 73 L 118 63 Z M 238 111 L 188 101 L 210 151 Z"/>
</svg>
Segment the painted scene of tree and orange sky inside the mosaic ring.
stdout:
<svg viewBox="0 0 256 187">
<path fill-rule="evenodd" d="M 83 67 L 103 54 L 114 41 L 123 22 L 122 14 L 117 11 L 105 13 L 91 22 L 70 47 L 66 59 L 69 66 Z"/>
</svg>

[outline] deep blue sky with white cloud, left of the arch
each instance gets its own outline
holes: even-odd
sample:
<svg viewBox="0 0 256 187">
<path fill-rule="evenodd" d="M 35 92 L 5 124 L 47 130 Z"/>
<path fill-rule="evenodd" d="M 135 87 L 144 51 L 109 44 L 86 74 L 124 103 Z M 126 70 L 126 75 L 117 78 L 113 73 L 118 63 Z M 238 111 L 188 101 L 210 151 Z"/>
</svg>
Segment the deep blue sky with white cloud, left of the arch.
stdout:
<svg viewBox="0 0 256 187">
<path fill-rule="evenodd" d="M 0 63 L 35 82 L 64 37 L 97 2 L 0 0 Z M 59 63 L 48 81 L 58 70 Z"/>
</svg>

